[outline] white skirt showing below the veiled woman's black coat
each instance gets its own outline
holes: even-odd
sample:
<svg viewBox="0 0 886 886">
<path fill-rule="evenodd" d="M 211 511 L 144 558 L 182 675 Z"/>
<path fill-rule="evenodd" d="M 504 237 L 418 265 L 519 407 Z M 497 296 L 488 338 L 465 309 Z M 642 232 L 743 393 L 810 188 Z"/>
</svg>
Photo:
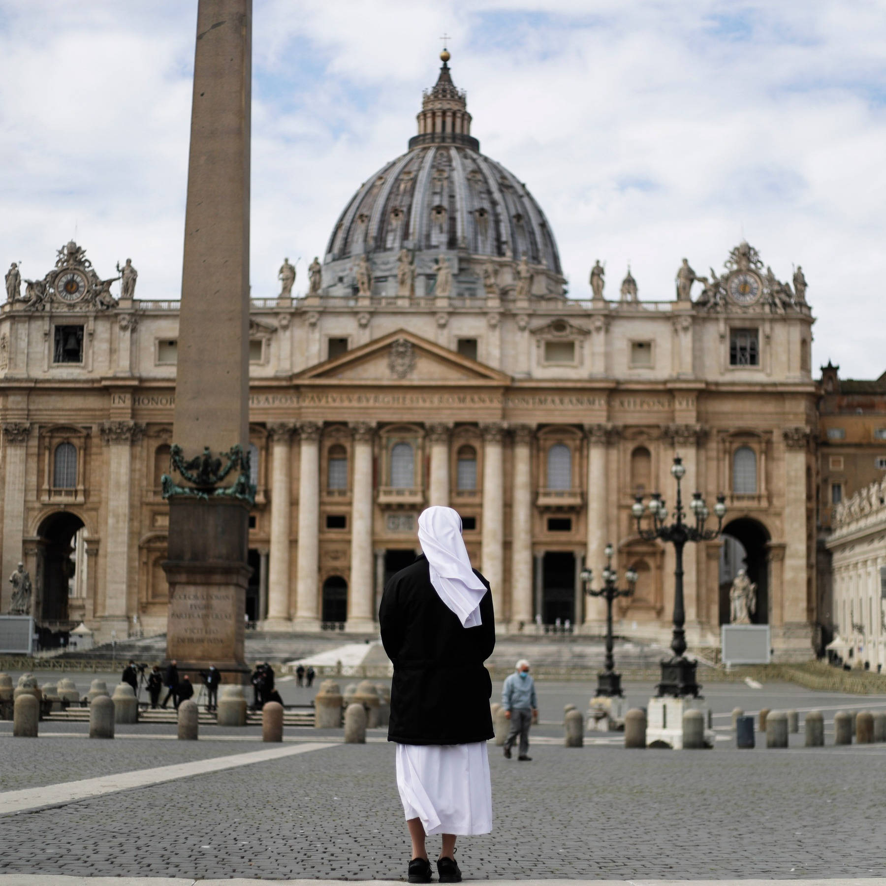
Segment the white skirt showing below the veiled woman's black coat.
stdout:
<svg viewBox="0 0 886 886">
<path fill-rule="evenodd" d="M 406 820 L 425 834 L 488 834 L 493 794 L 486 742 L 398 744 L 397 788 Z"/>
</svg>

